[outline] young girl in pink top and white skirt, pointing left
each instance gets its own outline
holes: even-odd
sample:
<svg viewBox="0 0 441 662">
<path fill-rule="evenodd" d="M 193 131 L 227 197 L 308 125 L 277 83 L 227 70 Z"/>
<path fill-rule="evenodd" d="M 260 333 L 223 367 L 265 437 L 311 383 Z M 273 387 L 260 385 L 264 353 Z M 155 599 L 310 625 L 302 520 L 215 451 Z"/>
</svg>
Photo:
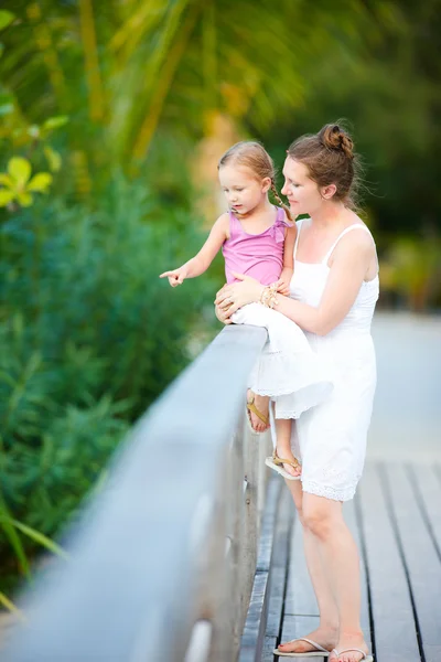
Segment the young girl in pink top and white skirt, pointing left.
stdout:
<svg viewBox="0 0 441 662">
<path fill-rule="evenodd" d="M 275 402 L 277 447 L 266 463 L 295 480 L 300 463 L 291 450 L 291 419 L 321 403 L 333 387 L 300 328 L 272 310 L 277 292 L 290 292 L 295 224 L 277 193 L 271 157 L 258 142 L 234 145 L 220 158 L 218 173 L 229 212 L 217 218 L 195 257 L 160 278 L 168 278 L 172 287 L 195 278 L 206 271 L 222 247 L 228 284 L 243 274 L 271 286 L 263 300 L 237 310 L 232 320 L 268 330 L 268 342 L 249 377 L 247 413 L 254 429 L 263 431 L 268 416 L 257 408 L 255 395 L 267 396 L 257 404 L 268 407 L 268 397 Z M 269 190 L 281 207 L 270 203 Z"/>
</svg>

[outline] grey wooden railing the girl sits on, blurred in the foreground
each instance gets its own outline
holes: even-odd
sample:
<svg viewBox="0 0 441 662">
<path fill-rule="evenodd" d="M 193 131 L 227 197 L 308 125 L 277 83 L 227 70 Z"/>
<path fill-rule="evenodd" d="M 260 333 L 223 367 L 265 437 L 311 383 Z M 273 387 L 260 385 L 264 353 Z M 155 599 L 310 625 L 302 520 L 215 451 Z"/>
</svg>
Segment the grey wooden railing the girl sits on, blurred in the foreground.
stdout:
<svg viewBox="0 0 441 662">
<path fill-rule="evenodd" d="M 228 327 L 138 423 L 22 597 L 4 662 L 234 662 L 252 583 L 268 436 L 245 426 L 266 341 Z"/>
</svg>

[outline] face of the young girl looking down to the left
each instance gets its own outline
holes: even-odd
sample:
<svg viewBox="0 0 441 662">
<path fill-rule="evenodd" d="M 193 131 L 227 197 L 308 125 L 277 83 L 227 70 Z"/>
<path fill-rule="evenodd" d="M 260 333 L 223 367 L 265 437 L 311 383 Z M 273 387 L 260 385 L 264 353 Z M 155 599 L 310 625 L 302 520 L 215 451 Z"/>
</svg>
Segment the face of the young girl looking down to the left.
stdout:
<svg viewBox="0 0 441 662">
<path fill-rule="evenodd" d="M 270 178 L 259 180 L 246 166 L 222 166 L 219 182 L 228 207 L 238 214 L 247 214 L 266 199 L 271 185 Z"/>
</svg>

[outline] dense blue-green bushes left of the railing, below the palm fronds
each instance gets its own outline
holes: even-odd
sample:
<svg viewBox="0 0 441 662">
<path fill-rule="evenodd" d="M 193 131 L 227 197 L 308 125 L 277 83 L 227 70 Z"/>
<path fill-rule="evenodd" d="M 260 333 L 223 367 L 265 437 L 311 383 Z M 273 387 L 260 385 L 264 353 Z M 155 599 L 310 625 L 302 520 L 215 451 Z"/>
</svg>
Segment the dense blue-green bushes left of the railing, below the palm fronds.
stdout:
<svg viewBox="0 0 441 662">
<path fill-rule="evenodd" d="M 174 290 L 159 279 L 201 244 L 189 214 L 122 177 L 97 207 L 37 201 L 1 225 L 0 565 L 10 570 L 17 558 L 25 572 L 17 533 L 25 554 L 41 543 L 11 533 L 12 521 L 58 531 L 187 363 L 189 333 L 207 328 L 214 284 Z"/>
</svg>

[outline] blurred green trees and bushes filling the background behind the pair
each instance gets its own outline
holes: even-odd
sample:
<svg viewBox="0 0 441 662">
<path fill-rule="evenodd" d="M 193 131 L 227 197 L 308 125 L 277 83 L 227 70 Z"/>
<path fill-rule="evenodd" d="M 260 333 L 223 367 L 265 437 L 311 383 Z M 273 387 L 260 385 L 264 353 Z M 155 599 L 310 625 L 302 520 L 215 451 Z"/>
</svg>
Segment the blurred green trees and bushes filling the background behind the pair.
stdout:
<svg viewBox="0 0 441 662">
<path fill-rule="evenodd" d="M 41 543 L 19 524 L 54 535 L 214 332 L 220 260 L 179 290 L 158 275 L 203 241 L 238 139 L 281 169 L 346 118 L 379 305 L 439 311 L 440 33 L 441 0 L 2 3 L 3 591 Z"/>
</svg>

